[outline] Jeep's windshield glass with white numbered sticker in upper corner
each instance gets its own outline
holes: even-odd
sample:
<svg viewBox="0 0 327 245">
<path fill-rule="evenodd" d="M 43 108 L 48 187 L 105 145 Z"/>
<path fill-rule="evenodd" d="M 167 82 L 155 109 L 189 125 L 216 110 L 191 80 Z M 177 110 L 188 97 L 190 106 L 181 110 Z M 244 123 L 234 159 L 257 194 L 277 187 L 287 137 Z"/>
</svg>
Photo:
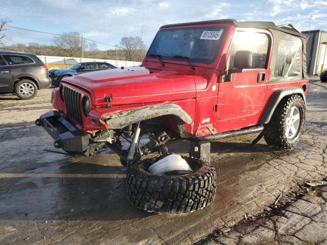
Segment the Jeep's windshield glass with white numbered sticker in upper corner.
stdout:
<svg viewBox="0 0 327 245">
<path fill-rule="evenodd" d="M 220 50 L 225 29 L 192 27 L 161 30 L 155 36 L 147 57 L 155 55 L 165 60 L 212 63 Z"/>
</svg>

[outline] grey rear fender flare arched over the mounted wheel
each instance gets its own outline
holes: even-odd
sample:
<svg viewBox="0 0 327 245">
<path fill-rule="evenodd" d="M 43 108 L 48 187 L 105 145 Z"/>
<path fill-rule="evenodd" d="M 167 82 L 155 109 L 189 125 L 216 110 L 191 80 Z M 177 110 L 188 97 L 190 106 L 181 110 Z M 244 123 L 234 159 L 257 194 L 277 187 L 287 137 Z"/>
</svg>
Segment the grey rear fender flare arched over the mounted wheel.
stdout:
<svg viewBox="0 0 327 245">
<path fill-rule="evenodd" d="M 306 96 L 305 96 L 305 92 L 303 91 L 303 89 L 301 89 L 299 87 L 278 89 L 271 95 L 271 97 L 268 101 L 268 104 L 259 120 L 259 124 L 261 124 L 261 125 L 268 124 L 270 121 L 270 118 L 272 117 L 279 102 L 281 102 L 284 97 L 286 97 L 288 95 L 292 95 L 292 94 L 301 95 L 302 99 L 305 101 L 305 104 L 307 105 Z"/>
</svg>

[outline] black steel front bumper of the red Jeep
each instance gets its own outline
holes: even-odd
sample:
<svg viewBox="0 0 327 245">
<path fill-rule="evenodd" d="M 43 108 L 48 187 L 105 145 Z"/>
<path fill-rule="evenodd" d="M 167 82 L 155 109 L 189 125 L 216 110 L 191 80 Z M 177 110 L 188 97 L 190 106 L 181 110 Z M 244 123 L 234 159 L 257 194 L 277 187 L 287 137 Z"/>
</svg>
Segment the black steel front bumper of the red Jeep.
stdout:
<svg viewBox="0 0 327 245">
<path fill-rule="evenodd" d="M 50 111 L 36 119 L 35 124 L 42 126 L 55 140 L 56 148 L 67 153 L 85 154 L 90 143 L 90 135 L 75 128 L 66 117 L 58 111 Z"/>
</svg>

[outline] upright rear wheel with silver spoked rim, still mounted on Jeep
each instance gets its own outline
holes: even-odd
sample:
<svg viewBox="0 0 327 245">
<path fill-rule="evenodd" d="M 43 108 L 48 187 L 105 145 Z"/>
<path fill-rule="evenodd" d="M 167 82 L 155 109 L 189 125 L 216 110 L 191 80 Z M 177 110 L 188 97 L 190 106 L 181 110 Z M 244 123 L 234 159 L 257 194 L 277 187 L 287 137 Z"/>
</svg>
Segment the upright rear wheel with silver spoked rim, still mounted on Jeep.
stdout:
<svg viewBox="0 0 327 245">
<path fill-rule="evenodd" d="M 284 98 L 265 127 L 267 144 L 277 149 L 292 150 L 304 129 L 305 106 L 305 101 L 298 94 Z"/>
</svg>

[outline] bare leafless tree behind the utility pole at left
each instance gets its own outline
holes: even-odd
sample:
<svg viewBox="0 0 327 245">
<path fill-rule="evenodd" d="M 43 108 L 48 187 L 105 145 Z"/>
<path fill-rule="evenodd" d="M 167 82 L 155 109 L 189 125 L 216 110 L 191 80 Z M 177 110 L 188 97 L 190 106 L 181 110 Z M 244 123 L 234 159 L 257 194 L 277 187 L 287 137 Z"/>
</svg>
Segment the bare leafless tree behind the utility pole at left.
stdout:
<svg viewBox="0 0 327 245">
<path fill-rule="evenodd" d="M 55 36 L 53 42 L 69 57 L 82 55 L 82 36 L 78 32 L 62 33 L 61 36 Z M 92 56 L 98 50 L 97 43 L 83 39 L 83 50 L 85 57 Z"/>
</svg>

